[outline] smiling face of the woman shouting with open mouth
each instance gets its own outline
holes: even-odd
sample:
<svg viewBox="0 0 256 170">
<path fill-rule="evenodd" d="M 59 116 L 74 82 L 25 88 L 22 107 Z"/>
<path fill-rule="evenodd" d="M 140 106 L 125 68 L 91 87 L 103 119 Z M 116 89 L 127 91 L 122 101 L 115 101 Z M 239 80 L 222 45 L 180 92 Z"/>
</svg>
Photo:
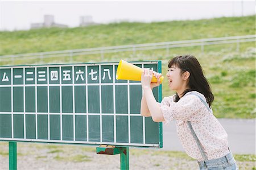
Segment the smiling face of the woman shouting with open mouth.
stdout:
<svg viewBox="0 0 256 170">
<path fill-rule="evenodd" d="M 183 87 L 184 81 L 181 77 L 181 69 L 172 65 L 171 68 L 168 69 L 166 74 L 169 82 L 169 88 L 171 90 L 178 91 L 180 88 Z"/>
</svg>

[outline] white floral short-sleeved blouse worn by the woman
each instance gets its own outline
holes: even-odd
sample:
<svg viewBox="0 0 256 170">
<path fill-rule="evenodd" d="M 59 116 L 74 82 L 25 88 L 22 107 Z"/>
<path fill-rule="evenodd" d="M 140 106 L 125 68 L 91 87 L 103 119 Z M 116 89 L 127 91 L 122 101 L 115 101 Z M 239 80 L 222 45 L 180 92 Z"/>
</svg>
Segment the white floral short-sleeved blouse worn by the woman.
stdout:
<svg viewBox="0 0 256 170">
<path fill-rule="evenodd" d="M 226 131 L 214 117 L 212 109 L 209 111 L 200 101 L 200 98 L 191 93 L 186 93 L 178 102 L 174 102 L 174 96 L 163 98 L 160 108 L 165 120 L 164 123 L 176 120 L 180 142 L 185 152 L 194 159 L 202 161 L 203 156 L 189 130 L 187 121 L 191 121 L 209 160 L 225 156 L 229 153 Z M 203 94 L 195 91 L 193 93 L 199 94 L 206 101 Z"/>
</svg>

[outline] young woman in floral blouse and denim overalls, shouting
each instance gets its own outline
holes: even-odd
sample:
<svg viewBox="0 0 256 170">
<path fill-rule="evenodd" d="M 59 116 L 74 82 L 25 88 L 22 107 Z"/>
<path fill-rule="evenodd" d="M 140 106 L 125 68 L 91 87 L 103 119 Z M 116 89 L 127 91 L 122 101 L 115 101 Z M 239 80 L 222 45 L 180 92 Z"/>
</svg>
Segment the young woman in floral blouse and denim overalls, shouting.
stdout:
<svg viewBox="0 0 256 170">
<path fill-rule="evenodd" d="M 228 147 L 228 135 L 211 109 L 214 96 L 199 61 L 192 55 L 176 56 L 168 63 L 168 86 L 176 94 L 156 102 L 152 89 L 160 85 L 160 73 L 143 69 L 141 115 L 155 122 L 176 120 L 185 152 L 197 159 L 200 169 L 238 169 Z M 152 76 L 158 82 L 151 82 Z"/>
</svg>

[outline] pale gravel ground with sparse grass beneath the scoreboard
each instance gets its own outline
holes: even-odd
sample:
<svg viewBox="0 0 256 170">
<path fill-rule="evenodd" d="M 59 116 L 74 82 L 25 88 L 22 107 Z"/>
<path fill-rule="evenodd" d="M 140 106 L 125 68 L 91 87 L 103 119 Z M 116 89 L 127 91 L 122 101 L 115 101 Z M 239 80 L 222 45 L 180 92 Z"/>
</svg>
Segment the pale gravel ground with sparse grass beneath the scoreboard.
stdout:
<svg viewBox="0 0 256 170">
<path fill-rule="evenodd" d="M 119 155 L 97 155 L 97 146 L 17 143 L 18 169 L 120 169 Z M 0 169 L 9 168 L 8 143 L 0 143 Z M 129 149 L 130 169 L 199 169 L 183 152 Z M 255 161 L 238 161 L 240 169 L 255 169 Z"/>
</svg>

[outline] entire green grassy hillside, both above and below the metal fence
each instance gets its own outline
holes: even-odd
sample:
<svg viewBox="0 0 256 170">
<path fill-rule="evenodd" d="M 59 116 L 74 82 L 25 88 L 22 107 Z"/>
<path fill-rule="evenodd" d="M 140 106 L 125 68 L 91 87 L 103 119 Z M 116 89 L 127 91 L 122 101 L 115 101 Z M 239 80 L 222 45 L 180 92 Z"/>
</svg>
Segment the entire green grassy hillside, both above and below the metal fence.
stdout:
<svg viewBox="0 0 256 170">
<path fill-rule="evenodd" d="M 255 34 L 255 15 L 154 23 L 112 23 L 77 28 L 42 28 L 29 31 L 0 32 L 0 55 L 59 51 L 114 45 L 169 42 L 176 40 L 215 38 Z M 255 118 L 255 42 L 184 47 L 150 51 L 110 53 L 103 61 L 162 60 L 163 74 L 172 57 L 192 53 L 199 59 L 210 84 L 215 101 L 213 111 L 218 118 Z M 99 55 L 76 56 L 75 62 L 102 61 Z M 63 63 L 68 59 L 53 58 L 44 63 Z M 14 64 L 38 63 L 23 60 Z M 5 63 L 10 64 L 10 63 Z M 163 96 L 174 92 L 163 82 Z"/>
</svg>

